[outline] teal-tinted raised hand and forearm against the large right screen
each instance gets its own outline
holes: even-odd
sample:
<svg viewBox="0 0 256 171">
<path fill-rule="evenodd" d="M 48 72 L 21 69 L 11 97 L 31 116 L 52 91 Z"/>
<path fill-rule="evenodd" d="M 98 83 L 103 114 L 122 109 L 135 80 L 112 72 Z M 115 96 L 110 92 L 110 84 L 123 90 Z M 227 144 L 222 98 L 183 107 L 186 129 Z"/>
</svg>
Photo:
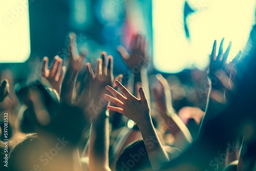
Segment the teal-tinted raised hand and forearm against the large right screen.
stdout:
<svg viewBox="0 0 256 171">
<path fill-rule="evenodd" d="M 210 66 L 209 66 L 209 78 L 211 80 L 211 89 L 209 91 L 208 96 L 208 105 L 207 105 L 207 113 L 205 114 L 201 128 L 204 126 L 209 120 L 218 116 L 226 106 L 229 104 L 230 99 L 232 98 L 232 94 L 234 89 L 236 89 L 236 81 L 234 79 L 234 75 L 236 75 L 236 62 L 239 60 L 242 52 L 239 51 L 236 57 L 230 63 L 227 63 L 227 57 L 229 55 L 229 51 L 232 45 L 230 41 L 225 53 L 223 53 L 223 43 L 224 39 L 222 39 L 220 43 L 219 53 L 216 55 L 217 41 L 214 41 L 214 46 L 212 47 L 211 57 L 210 57 Z M 216 91 L 219 96 L 219 102 L 212 98 L 216 97 Z M 200 128 L 200 130 L 201 130 Z"/>
</svg>

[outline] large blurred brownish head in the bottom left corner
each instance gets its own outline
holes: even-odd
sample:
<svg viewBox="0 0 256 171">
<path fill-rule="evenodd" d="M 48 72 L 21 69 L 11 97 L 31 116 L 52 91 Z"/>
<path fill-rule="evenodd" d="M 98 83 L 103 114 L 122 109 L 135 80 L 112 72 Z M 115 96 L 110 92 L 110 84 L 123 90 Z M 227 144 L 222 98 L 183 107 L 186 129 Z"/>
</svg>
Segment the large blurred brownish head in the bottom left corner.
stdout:
<svg viewBox="0 0 256 171">
<path fill-rule="evenodd" d="M 72 170 L 65 139 L 30 134 L 11 151 L 9 170 Z"/>
</svg>

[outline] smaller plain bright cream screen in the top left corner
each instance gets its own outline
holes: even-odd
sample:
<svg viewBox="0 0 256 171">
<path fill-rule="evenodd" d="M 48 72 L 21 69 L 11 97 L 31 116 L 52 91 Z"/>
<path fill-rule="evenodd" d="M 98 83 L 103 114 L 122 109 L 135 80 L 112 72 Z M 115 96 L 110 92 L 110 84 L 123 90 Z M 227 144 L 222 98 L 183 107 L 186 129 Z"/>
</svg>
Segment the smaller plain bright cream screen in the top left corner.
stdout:
<svg viewBox="0 0 256 171">
<path fill-rule="evenodd" d="M 1 1 L 0 11 L 0 62 L 24 62 L 30 55 L 28 1 Z"/>
</svg>

